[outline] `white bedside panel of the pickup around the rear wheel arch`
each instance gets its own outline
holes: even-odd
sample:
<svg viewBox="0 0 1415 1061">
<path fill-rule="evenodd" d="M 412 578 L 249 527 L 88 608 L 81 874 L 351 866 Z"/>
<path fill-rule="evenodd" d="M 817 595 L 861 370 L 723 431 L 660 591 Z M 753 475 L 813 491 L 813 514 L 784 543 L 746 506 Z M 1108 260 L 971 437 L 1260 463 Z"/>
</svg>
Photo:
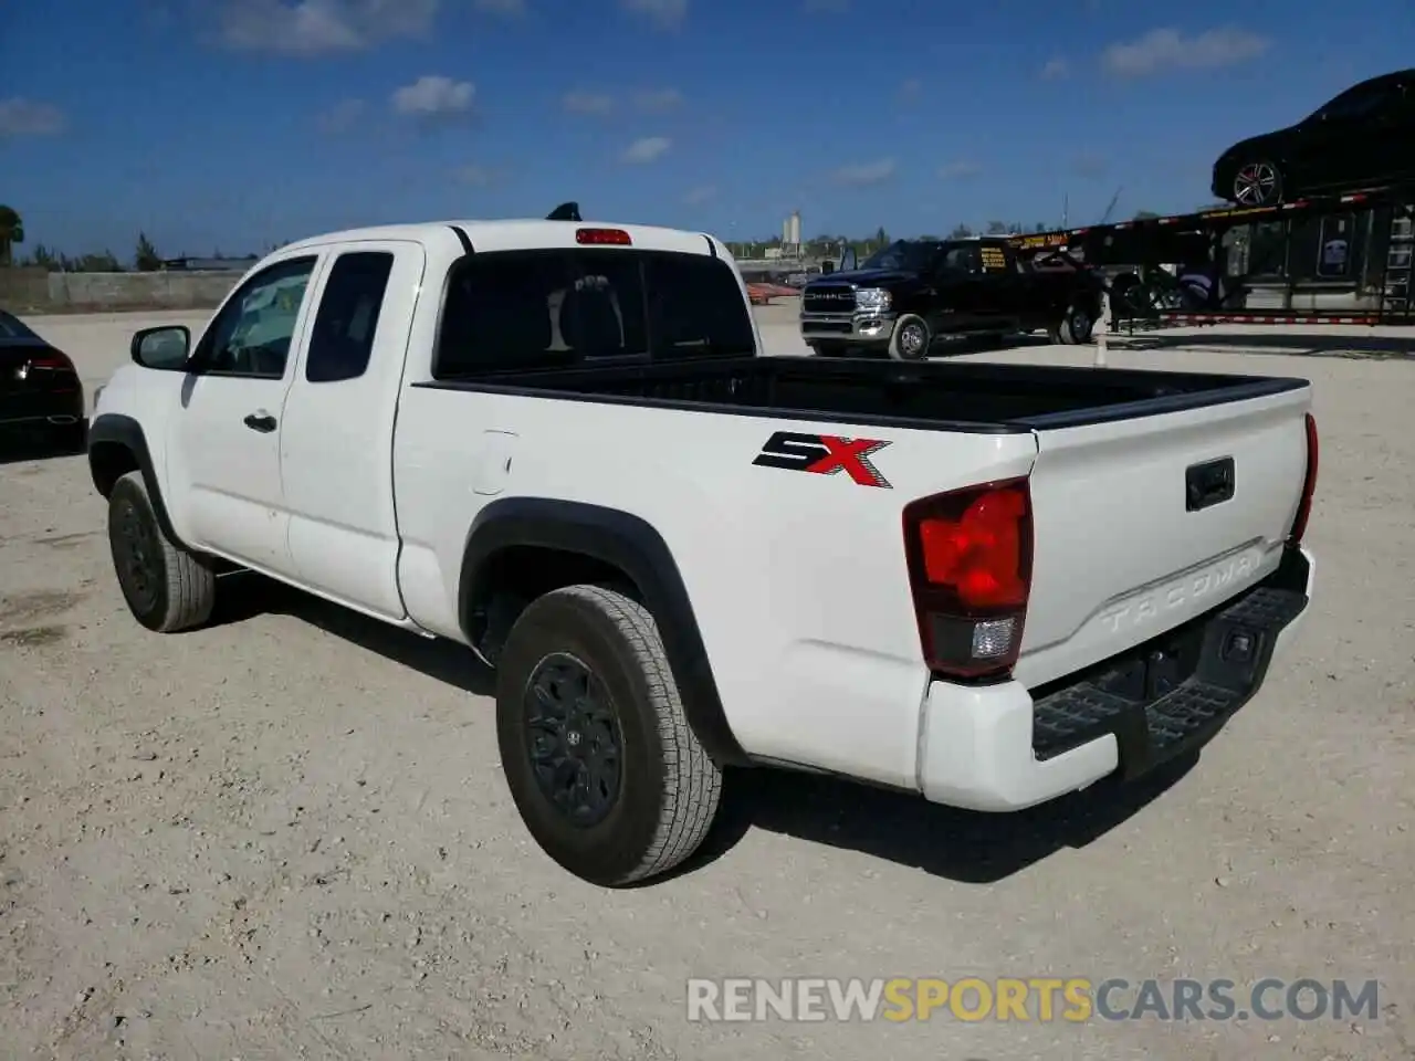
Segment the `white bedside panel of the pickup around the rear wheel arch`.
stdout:
<svg viewBox="0 0 1415 1061">
<path fill-rule="evenodd" d="M 760 467 L 777 431 L 884 443 L 883 485 Z M 501 498 L 624 511 L 674 555 L 749 754 L 914 784 L 928 682 L 904 564 L 918 497 L 1026 474 L 1032 434 L 822 424 L 491 390 L 405 389 L 393 468 L 409 614 L 463 639 L 468 532 Z"/>
</svg>

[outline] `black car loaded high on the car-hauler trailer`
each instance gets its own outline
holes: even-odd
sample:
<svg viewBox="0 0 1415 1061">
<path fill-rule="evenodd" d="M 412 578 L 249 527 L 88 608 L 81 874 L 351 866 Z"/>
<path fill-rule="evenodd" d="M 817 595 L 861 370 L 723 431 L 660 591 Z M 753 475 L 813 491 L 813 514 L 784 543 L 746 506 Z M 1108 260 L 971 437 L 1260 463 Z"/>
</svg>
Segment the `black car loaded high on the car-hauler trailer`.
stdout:
<svg viewBox="0 0 1415 1061">
<path fill-rule="evenodd" d="M 1214 163 L 1213 194 L 1272 207 L 1317 192 L 1415 177 L 1415 69 L 1363 81 L 1295 126 L 1234 144 Z"/>
</svg>

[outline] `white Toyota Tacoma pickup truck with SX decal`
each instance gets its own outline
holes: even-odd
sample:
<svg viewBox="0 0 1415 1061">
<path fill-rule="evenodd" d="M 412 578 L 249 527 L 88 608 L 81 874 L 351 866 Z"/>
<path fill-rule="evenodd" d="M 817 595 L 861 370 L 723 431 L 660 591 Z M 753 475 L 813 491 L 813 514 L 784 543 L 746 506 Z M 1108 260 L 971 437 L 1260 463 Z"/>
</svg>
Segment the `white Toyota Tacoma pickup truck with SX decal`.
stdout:
<svg viewBox="0 0 1415 1061">
<path fill-rule="evenodd" d="M 306 239 L 132 361 L 89 464 L 137 621 L 236 566 L 470 647 L 526 828 L 606 886 L 729 765 L 982 811 L 1138 775 L 1312 596 L 1306 381 L 766 356 L 698 232 Z"/>
</svg>

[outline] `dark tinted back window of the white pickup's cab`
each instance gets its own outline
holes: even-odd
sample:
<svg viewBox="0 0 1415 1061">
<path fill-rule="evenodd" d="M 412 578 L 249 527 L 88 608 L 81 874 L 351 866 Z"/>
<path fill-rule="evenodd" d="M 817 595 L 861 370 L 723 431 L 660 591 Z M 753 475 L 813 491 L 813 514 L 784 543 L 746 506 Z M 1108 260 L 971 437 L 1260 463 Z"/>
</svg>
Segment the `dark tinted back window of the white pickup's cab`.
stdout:
<svg viewBox="0 0 1415 1061">
<path fill-rule="evenodd" d="M 658 250 L 494 250 L 447 284 L 433 375 L 756 352 L 732 269 Z"/>
</svg>

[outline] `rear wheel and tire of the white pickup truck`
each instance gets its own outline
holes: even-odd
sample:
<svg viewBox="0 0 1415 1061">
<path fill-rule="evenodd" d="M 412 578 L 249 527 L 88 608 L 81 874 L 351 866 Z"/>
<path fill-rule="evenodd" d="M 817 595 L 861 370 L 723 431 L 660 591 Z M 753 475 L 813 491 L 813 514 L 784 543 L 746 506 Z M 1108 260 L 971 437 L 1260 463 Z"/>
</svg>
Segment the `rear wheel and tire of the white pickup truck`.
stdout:
<svg viewBox="0 0 1415 1061">
<path fill-rule="evenodd" d="M 573 703 L 566 685 L 579 690 Z M 539 768 L 532 731 L 542 736 Z M 596 779 L 586 750 L 600 741 L 617 751 L 600 760 Z M 601 586 L 555 590 L 521 613 L 497 665 L 497 743 L 526 829 L 591 884 L 666 873 L 698 850 L 717 815 L 722 772 L 688 724 L 654 617 Z M 579 806 L 563 806 L 550 775 L 567 801 L 597 781 L 599 799 L 586 784 Z M 576 791 L 566 794 L 572 775 Z"/>
</svg>

